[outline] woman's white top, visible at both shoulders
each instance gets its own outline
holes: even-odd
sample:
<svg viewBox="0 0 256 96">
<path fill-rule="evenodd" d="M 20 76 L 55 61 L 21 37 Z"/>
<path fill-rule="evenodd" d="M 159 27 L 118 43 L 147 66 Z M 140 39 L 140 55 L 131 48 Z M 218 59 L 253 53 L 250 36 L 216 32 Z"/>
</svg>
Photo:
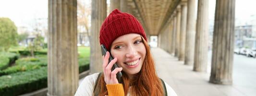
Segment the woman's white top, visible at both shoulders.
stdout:
<svg viewBox="0 0 256 96">
<path fill-rule="evenodd" d="M 96 80 L 98 78 L 99 73 L 94 73 L 91 75 L 88 75 L 85 77 L 85 79 L 82 81 L 82 83 L 79 85 L 76 93 L 74 96 L 93 96 L 93 90 L 96 83 Z M 174 90 L 169 86 L 166 82 L 166 90 L 168 96 L 177 96 L 177 94 L 174 92 Z M 127 96 L 130 96 L 129 93 Z"/>
</svg>

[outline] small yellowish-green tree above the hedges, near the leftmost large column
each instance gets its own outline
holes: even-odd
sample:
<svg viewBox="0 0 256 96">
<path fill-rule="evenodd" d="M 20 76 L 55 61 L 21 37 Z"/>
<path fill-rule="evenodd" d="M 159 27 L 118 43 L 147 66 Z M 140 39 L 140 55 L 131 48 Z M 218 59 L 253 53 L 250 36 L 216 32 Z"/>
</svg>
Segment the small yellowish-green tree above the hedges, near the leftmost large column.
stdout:
<svg viewBox="0 0 256 96">
<path fill-rule="evenodd" d="M 40 36 L 39 34 L 37 37 L 28 44 L 27 49 L 30 51 L 30 54 L 32 57 L 34 57 L 34 52 L 37 50 L 43 49 L 43 44 L 44 44 L 44 37 Z"/>
</svg>

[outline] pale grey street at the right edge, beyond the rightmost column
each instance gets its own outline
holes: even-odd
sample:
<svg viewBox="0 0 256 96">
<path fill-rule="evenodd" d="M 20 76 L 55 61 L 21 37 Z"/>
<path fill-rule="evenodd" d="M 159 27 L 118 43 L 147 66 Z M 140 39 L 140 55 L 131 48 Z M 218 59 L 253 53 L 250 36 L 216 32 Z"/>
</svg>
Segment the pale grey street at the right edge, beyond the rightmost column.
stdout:
<svg viewBox="0 0 256 96">
<path fill-rule="evenodd" d="M 208 68 L 210 73 L 211 52 L 208 51 Z M 256 94 L 256 58 L 234 54 L 232 86 L 246 96 Z"/>
</svg>

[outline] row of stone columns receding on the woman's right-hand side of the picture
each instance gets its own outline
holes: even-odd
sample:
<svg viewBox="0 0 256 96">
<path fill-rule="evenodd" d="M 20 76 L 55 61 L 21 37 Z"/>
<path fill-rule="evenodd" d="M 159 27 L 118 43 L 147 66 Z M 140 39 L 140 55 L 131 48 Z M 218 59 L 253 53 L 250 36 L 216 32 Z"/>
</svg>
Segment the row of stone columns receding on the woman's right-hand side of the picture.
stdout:
<svg viewBox="0 0 256 96">
<path fill-rule="evenodd" d="M 207 70 L 208 4 L 198 0 L 196 11 L 196 0 L 182 0 L 158 35 L 158 47 L 197 72 Z M 235 0 L 216 0 L 211 83 L 232 84 L 234 8 Z"/>
</svg>

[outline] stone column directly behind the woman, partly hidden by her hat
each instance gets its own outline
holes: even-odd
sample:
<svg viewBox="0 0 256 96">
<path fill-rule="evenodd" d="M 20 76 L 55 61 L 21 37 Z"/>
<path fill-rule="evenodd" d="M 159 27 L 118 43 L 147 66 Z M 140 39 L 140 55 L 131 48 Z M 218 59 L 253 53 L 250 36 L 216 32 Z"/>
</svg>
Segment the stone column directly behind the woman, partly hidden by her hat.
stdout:
<svg viewBox="0 0 256 96">
<path fill-rule="evenodd" d="M 99 30 L 107 16 L 106 0 L 92 0 L 90 72 L 102 72 L 102 56 L 99 44 Z"/>
</svg>

